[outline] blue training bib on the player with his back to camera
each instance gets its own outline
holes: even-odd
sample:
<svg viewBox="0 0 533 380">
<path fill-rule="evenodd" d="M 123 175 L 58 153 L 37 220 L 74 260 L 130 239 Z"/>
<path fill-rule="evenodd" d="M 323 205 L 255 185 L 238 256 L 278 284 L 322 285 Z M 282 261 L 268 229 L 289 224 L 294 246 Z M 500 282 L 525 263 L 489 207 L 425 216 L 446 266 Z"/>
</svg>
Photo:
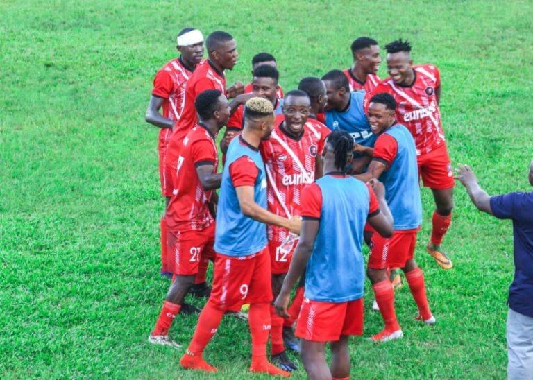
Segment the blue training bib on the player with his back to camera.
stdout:
<svg viewBox="0 0 533 380">
<path fill-rule="evenodd" d="M 307 263 L 305 297 L 348 302 L 363 295 L 363 230 L 370 209 L 369 188 L 344 174 L 325 175 L 319 187 L 319 232 Z"/>
</svg>

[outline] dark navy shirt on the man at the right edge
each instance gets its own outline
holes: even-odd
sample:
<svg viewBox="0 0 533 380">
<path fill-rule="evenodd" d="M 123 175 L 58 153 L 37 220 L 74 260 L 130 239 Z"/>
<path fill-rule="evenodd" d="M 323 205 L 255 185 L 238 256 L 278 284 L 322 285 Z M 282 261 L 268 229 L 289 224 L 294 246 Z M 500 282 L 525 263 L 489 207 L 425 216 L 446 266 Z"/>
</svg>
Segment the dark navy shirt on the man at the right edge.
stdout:
<svg viewBox="0 0 533 380">
<path fill-rule="evenodd" d="M 509 307 L 533 318 L 533 191 L 491 197 L 496 218 L 512 219 L 514 279 L 509 288 Z"/>
</svg>

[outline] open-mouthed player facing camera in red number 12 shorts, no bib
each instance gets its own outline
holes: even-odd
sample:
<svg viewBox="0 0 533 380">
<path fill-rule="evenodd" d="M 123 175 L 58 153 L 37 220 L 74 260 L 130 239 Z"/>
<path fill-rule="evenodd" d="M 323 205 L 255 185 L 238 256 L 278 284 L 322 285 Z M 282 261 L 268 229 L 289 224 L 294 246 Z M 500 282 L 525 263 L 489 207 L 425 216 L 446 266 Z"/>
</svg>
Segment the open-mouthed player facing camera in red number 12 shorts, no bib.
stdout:
<svg viewBox="0 0 533 380">
<path fill-rule="evenodd" d="M 292 90 L 285 95 L 283 115 L 276 118 L 270 139 L 262 141 L 260 152 L 264 160 L 269 183 L 268 209 L 273 214 L 291 218 L 300 216 L 301 192 L 322 173 L 317 162 L 325 137 L 330 130 L 318 122 L 307 121 L 310 114 L 310 99 L 301 90 Z M 276 225 L 267 226 L 272 268 L 272 293 L 277 297 L 283 279 L 289 270 L 293 248 L 286 252 L 282 243 L 289 239 L 289 230 Z M 296 244 L 294 244 L 296 245 Z M 295 304 L 299 311 L 302 288 L 298 288 Z M 296 314 L 298 311 L 293 311 Z M 291 315 L 294 322 L 295 315 Z M 284 321 L 271 306 L 271 361 L 284 370 L 296 370 L 296 365 L 285 354 L 282 334 Z M 289 347 L 289 348 L 297 348 Z"/>
</svg>

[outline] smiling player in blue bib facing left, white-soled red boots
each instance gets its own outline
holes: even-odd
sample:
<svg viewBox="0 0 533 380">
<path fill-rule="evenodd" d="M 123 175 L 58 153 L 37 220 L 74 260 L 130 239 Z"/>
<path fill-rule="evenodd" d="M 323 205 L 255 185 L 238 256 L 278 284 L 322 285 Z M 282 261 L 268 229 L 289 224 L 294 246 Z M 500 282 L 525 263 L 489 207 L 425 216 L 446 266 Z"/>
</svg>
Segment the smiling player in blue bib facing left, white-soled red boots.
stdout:
<svg viewBox="0 0 533 380">
<path fill-rule="evenodd" d="M 379 178 L 385 187 L 385 198 L 394 217 L 394 234 L 372 234 L 368 270 L 370 282 L 385 328 L 370 339 L 376 342 L 403 337 L 394 311 L 394 289 L 387 268 L 402 268 L 409 289 L 418 306 L 417 320 L 433 325 L 433 317 L 425 295 L 424 275 L 414 260 L 416 234 L 422 223 L 422 201 L 418 186 L 416 147 L 412 135 L 396 120 L 396 101 L 387 93 L 370 99 L 369 121 L 375 141 L 368 171 L 355 178 L 366 181 Z"/>
</svg>

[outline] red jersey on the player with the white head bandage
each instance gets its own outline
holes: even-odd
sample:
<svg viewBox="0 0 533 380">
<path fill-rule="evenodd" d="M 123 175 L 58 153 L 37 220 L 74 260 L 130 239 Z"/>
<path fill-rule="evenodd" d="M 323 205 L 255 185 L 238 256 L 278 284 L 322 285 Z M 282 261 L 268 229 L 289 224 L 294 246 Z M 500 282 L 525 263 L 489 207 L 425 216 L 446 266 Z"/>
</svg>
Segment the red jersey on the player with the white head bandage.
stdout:
<svg viewBox="0 0 533 380">
<path fill-rule="evenodd" d="M 170 120 L 179 120 L 185 101 L 185 84 L 192 76 L 192 71 L 187 69 L 180 58 L 165 64 L 153 80 L 152 95 L 164 98 L 163 117 Z M 166 147 L 169 144 L 172 130 L 161 128 L 159 143 Z"/>
</svg>

